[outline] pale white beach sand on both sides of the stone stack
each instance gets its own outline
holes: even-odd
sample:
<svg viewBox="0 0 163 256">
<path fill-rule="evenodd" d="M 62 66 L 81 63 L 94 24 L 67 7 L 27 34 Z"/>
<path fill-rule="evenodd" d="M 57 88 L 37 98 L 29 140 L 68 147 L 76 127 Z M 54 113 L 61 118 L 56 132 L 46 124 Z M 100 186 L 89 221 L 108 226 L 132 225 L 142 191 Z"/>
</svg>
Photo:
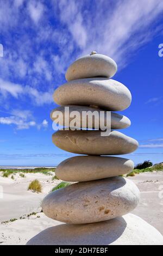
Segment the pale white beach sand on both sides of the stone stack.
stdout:
<svg viewBox="0 0 163 256">
<path fill-rule="evenodd" d="M 42 193 L 27 191 L 29 182 L 34 179 L 40 180 Z M 163 235 L 163 172 L 141 173 L 129 179 L 135 182 L 141 192 L 140 203 L 132 213 L 153 225 Z M 52 181 L 52 176 L 40 173 L 26 174 L 26 178 L 16 174 L 15 180 L 0 177 L 0 186 L 4 192 L 3 198 L 0 197 L 0 221 L 19 218 L 33 211 L 39 212 L 41 200 L 59 182 Z M 40 231 L 58 224 L 61 222 L 51 220 L 42 212 L 26 216 L 23 220 L 0 224 L 0 244 L 25 245 Z"/>
</svg>

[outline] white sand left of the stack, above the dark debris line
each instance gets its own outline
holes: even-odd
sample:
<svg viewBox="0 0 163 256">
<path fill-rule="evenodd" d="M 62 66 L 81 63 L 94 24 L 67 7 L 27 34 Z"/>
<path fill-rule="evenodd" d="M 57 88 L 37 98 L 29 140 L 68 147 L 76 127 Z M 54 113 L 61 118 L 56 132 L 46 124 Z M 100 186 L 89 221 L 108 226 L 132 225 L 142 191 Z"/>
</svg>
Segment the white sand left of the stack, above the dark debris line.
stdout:
<svg viewBox="0 0 163 256">
<path fill-rule="evenodd" d="M 53 172 L 52 174 L 54 175 Z M 2 175 L 1 172 L 0 175 Z M 0 188 L 3 190 L 0 195 L 0 223 L 33 211 L 40 211 L 42 199 L 60 182 L 60 180 L 52 181 L 53 175 L 25 173 L 26 178 L 21 178 L 16 173 L 14 180 L 0 176 Z M 42 193 L 27 190 L 29 183 L 35 179 L 41 182 Z"/>
</svg>

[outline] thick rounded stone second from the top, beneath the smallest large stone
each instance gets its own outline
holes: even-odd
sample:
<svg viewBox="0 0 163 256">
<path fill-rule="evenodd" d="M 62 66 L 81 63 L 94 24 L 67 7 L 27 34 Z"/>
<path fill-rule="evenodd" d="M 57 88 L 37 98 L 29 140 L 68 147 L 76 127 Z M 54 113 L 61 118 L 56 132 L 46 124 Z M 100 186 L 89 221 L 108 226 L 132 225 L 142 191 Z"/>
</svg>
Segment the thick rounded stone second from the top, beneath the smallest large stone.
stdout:
<svg viewBox="0 0 163 256">
<path fill-rule="evenodd" d="M 55 90 L 53 98 L 62 106 L 97 106 L 108 111 L 122 111 L 131 103 L 131 94 L 126 86 L 102 77 L 67 82 Z"/>
</svg>

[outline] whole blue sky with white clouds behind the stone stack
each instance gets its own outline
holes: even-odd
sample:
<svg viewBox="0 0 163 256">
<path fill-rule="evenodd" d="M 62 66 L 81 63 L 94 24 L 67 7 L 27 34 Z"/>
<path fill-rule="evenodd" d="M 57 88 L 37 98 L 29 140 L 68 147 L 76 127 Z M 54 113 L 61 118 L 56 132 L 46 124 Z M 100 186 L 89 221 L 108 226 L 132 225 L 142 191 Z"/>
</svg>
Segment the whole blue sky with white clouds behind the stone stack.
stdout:
<svg viewBox="0 0 163 256">
<path fill-rule="evenodd" d="M 139 3 L 138 3 L 139 2 Z M 112 57 L 127 86 L 126 135 L 135 163 L 163 157 L 162 0 L 0 0 L 0 166 L 55 166 L 71 153 L 52 144 L 54 89 L 68 65 L 92 50 Z"/>
</svg>

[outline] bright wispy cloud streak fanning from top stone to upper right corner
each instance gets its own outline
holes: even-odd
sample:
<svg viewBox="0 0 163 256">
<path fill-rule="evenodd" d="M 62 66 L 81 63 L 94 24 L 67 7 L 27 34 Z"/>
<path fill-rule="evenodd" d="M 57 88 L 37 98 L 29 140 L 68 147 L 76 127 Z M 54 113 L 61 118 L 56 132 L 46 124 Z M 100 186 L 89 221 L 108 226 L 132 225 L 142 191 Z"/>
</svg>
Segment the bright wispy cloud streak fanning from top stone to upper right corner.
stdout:
<svg viewBox="0 0 163 256">
<path fill-rule="evenodd" d="M 126 63 L 131 53 L 152 38 L 154 29 L 152 31 L 150 26 L 162 13 L 163 2 L 119 0 L 109 11 L 102 8 L 103 4 L 101 1 L 98 7 L 101 8 L 101 15 L 94 16 L 87 31 L 89 47 L 83 50 L 91 52 L 95 49 L 108 54 L 121 65 Z"/>
</svg>

